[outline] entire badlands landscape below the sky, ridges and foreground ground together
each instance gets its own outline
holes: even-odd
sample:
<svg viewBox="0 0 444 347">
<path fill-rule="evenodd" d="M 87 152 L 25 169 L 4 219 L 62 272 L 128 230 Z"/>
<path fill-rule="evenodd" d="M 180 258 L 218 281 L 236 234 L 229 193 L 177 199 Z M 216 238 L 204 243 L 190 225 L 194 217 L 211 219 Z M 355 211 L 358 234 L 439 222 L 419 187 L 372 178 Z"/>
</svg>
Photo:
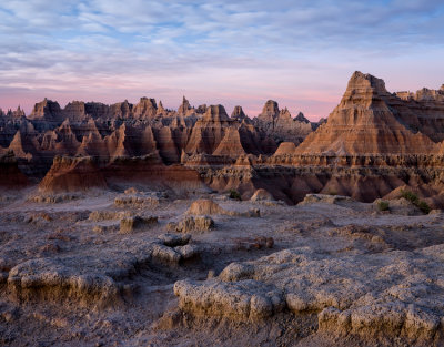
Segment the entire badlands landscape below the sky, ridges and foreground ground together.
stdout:
<svg viewBox="0 0 444 347">
<path fill-rule="evenodd" d="M 0 345 L 443 346 L 444 85 L 0 110 Z"/>
</svg>

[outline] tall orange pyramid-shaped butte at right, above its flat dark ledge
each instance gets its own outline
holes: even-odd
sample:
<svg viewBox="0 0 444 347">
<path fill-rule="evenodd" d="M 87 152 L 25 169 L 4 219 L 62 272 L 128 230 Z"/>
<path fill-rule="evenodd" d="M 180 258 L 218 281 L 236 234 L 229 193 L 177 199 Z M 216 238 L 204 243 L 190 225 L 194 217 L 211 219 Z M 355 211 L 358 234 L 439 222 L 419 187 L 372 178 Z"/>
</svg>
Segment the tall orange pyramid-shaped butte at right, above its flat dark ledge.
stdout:
<svg viewBox="0 0 444 347">
<path fill-rule="evenodd" d="M 405 125 L 394 104 L 403 105 L 402 100 L 386 91 L 383 80 L 355 72 L 327 122 L 310 134 L 296 152 L 334 155 L 435 153 L 436 144 Z"/>
</svg>

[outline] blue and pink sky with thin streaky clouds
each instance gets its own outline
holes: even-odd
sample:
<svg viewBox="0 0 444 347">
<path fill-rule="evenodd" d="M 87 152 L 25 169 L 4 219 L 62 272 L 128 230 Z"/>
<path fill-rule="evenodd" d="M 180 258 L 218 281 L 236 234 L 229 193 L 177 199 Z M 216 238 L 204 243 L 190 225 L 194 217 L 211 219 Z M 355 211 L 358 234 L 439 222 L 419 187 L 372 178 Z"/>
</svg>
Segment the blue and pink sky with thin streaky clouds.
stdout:
<svg viewBox="0 0 444 347">
<path fill-rule="evenodd" d="M 176 109 L 266 100 L 315 121 L 354 71 L 389 91 L 444 83 L 444 3 L 418 0 L 1 0 L 0 108 L 44 98 Z"/>
</svg>

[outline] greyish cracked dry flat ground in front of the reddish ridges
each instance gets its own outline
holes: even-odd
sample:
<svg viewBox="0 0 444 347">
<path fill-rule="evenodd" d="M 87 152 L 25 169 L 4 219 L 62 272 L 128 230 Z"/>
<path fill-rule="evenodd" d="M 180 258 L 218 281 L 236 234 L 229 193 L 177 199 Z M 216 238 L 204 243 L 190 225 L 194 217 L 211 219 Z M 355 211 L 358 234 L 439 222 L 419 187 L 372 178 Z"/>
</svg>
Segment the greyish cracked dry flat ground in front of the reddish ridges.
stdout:
<svg viewBox="0 0 444 347">
<path fill-rule="evenodd" d="M 347 200 L 286 206 L 208 195 L 221 207 L 210 216 L 214 227 L 193 231 L 192 200 L 74 197 L 2 198 L 0 345 L 444 341 L 440 212 L 406 216 Z M 256 208 L 260 217 L 250 213 Z M 178 223 L 182 233 L 171 227 Z M 262 242 L 270 237 L 274 245 Z"/>
</svg>

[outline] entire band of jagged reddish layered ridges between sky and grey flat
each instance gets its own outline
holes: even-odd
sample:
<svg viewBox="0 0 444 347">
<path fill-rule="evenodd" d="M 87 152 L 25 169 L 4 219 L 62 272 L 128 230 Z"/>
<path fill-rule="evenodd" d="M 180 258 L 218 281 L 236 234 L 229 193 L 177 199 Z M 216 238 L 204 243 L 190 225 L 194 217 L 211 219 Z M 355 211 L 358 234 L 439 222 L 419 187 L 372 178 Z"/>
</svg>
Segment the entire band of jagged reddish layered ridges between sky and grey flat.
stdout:
<svg viewBox="0 0 444 347">
<path fill-rule="evenodd" d="M 319 123 L 292 118 L 272 100 L 253 120 L 241 106 L 229 116 L 222 105 L 194 108 L 185 98 L 178 111 L 149 98 L 64 109 L 44 100 L 29 118 L 20 109 L 0 113 L 0 152 L 13 151 L 33 177 L 58 167 L 57 155 L 91 156 L 107 182 L 170 180 L 175 187 L 236 190 L 242 198 L 263 188 L 287 203 L 307 193 L 371 202 L 405 186 L 444 206 L 443 93 L 390 93 L 383 80 L 355 72 Z"/>
</svg>

